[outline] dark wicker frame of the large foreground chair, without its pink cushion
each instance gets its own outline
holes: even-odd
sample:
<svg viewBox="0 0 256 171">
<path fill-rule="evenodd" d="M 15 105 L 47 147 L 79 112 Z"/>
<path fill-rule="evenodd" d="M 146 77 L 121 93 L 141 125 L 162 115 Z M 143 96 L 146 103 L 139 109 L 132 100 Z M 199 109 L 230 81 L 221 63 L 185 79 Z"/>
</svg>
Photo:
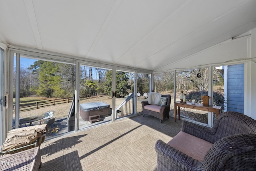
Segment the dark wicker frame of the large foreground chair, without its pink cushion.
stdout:
<svg viewBox="0 0 256 171">
<path fill-rule="evenodd" d="M 256 121 L 238 112 L 224 112 L 212 128 L 183 121 L 181 131 L 213 145 L 198 161 L 158 140 L 155 145 L 158 171 L 256 170 Z M 175 137 L 174 137 L 175 138 Z M 173 139 L 174 139 L 173 138 Z"/>
</svg>

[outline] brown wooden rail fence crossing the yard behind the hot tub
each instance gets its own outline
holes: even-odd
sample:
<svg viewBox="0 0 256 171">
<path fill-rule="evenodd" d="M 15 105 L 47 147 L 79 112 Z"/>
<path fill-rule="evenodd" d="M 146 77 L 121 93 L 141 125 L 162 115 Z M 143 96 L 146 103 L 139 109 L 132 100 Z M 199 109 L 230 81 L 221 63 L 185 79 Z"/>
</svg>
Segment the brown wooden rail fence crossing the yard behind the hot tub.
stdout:
<svg viewBox="0 0 256 171">
<path fill-rule="evenodd" d="M 96 93 L 96 94 L 86 94 L 80 95 L 79 100 L 94 98 L 94 97 L 102 97 L 106 96 L 104 93 Z M 52 99 L 52 100 L 43 100 L 32 103 L 20 104 L 20 111 L 29 111 L 38 109 L 41 107 L 51 106 L 51 105 L 59 105 L 62 103 L 71 103 L 73 97 L 61 98 L 61 99 Z M 15 105 L 13 106 L 13 113 L 15 112 Z"/>
</svg>

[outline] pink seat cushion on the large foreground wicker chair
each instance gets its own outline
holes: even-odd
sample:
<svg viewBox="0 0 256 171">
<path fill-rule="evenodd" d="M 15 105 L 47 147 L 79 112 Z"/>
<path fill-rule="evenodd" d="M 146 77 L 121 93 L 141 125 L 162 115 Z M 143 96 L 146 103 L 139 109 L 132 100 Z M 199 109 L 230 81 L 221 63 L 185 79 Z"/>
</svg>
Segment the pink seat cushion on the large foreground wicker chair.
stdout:
<svg viewBox="0 0 256 171">
<path fill-rule="evenodd" d="M 212 143 L 182 131 L 167 144 L 198 161 L 202 161 L 212 147 Z"/>
</svg>

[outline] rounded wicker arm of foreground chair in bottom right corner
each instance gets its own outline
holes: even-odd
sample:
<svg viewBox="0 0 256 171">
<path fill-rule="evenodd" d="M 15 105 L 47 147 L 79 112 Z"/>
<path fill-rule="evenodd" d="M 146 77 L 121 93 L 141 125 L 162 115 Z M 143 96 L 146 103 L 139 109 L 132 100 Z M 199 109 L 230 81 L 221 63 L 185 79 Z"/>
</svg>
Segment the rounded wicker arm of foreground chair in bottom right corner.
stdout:
<svg viewBox="0 0 256 171">
<path fill-rule="evenodd" d="M 256 134 L 237 134 L 216 141 L 206 153 L 205 170 L 254 170 L 256 168 Z"/>
</svg>

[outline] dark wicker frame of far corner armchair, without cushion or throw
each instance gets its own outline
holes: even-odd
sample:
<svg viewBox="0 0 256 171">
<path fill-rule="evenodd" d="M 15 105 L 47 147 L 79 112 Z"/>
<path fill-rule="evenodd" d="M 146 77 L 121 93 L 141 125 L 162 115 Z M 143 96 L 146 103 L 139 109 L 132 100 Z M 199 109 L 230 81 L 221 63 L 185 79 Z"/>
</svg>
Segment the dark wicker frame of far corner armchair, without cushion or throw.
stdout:
<svg viewBox="0 0 256 171">
<path fill-rule="evenodd" d="M 148 104 L 148 101 L 142 101 L 142 111 L 143 111 L 143 117 L 145 114 L 147 115 L 152 115 L 154 117 L 157 117 L 160 119 L 161 123 L 164 120 L 164 118 L 168 117 L 169 118 L 169 112 L 170 112 L 170 104 L 171 104 L 171 95 L 162 95 L 162 97 L 167 97 L 167 102 L 166 105 L 162 105 L 160 109 L 160 113 L 156 111 L 151 111 L 148 109 L 145 109 L 144 107 Z"/>
</svg>

